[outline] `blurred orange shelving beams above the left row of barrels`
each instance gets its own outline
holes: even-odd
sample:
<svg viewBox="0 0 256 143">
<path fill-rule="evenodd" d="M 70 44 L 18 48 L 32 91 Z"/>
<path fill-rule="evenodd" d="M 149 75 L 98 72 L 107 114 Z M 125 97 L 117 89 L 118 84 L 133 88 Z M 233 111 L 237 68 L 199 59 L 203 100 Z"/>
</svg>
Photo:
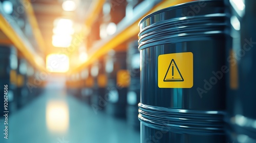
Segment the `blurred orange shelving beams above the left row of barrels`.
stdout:
<svg viewBox="0 0 256 143">
<path fill-rule="evenodd" d="M 29 1 L 25 1 L 27 7 L 25 12 L 29 19 L 29 24 L 32 27 L 32 33 L 35 36 L 36 42 L 40 52 L 44 51 L 44 40 L 41 37 L 40 30 L 38 29 L 37 21 L 33 12 L 32 5 Z M 11 15 L 6 14 L 2 7 L 0 7 L 0 29 L 2 30 L 1 43 L 13 44 L 20 53 L 38 70 L 45 71 L 44 57 L 39 55 L 33 48 L 29 39 L 25 36 L 22 30 L 18 27 L 17 23 Z"/>
</svg>

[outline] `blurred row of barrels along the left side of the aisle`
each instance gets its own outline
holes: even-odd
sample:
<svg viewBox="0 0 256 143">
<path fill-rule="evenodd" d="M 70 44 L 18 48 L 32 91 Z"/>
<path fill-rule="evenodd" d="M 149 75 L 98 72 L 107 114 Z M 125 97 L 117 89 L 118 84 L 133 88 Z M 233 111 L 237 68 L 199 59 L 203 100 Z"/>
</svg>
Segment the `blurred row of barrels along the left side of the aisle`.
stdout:
<svg viewBox="0 0 256 143">
<path fill-rule="evenodd" d="M 42 91 L 44 81 L 39 76 L 39 70 L 18 54 L 13 45 L 0 45 L 0 62 L 0 85 L 3 94 L 0 99 L 0 113 L 4 117 L 4 111 L 12 114 L 37 97 Z"/>
</svg>

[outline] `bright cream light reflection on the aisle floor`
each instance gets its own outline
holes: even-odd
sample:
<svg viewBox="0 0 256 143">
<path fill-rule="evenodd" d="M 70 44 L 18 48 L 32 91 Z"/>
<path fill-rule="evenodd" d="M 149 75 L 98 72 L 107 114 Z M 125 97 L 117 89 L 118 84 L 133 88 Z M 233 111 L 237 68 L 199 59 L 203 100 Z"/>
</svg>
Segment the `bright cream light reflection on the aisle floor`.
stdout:
<svg viewBox="0 0 256 143">
<path fill-rule="evenodd" d="M 69 109 L 66 102 L 50 101 L 46 107 L 47 128 L 52 132 L 64 133 L 69 128 Z"/>
</svg>

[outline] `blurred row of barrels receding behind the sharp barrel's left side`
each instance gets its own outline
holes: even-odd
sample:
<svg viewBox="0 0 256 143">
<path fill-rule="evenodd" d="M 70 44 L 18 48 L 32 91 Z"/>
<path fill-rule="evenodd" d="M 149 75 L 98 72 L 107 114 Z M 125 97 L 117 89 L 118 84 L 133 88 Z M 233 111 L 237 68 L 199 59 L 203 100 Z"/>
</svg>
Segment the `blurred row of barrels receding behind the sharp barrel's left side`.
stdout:
<svg viewBox="0 0 256 143">
<path fill-rule="evenodd" d="M 68 93 L 92 107 L 95 113 L 105 111 L 126 118 L 139 129 L 140 54 L 138 42 L 127 45 L 127 51 L 110 51 L 92 65 L 67 78 Z"/>
</svg>

